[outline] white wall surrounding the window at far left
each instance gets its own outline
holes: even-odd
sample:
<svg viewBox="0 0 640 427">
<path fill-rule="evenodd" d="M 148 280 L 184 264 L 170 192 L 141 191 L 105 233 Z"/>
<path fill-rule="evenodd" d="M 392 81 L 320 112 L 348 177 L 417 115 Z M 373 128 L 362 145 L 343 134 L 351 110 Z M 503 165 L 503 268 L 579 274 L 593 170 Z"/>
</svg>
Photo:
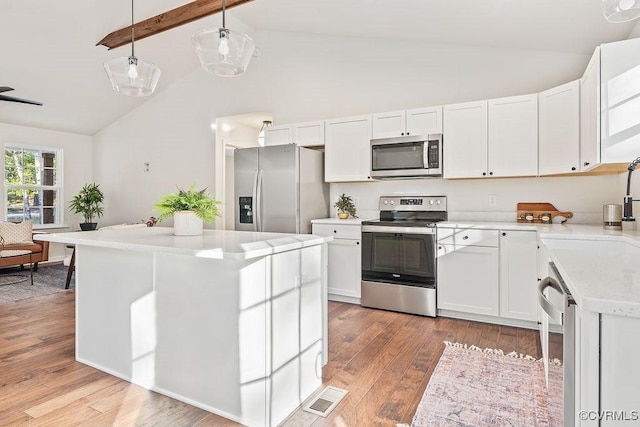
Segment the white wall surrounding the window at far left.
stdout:
<svg viewBox="0 0 640 427">
<path fill-rule="evenodd" d="M 4 147 L 6 144 L 62 148 L 64 188 L 61 196 L 64 223 L 70 230 L 78 230 L 78 223 L 82 218 L 70 213 L 68 207 L 69 201 L 80 191 L 82 186 L 93 181 L 92 137 L 0 123 L 0 145 Z M 4 191 L 4 179 L 2 186 Z M 109 199 L 109 196 L 109 194 L 105 194 L 105 198 Z M 4 210 L 4 197 L 0 199 L 0 209 Z M 64 248 L 61 245 L 52 244 L 50 248 L 50 259 L 64 258 Z"/>
</svg>

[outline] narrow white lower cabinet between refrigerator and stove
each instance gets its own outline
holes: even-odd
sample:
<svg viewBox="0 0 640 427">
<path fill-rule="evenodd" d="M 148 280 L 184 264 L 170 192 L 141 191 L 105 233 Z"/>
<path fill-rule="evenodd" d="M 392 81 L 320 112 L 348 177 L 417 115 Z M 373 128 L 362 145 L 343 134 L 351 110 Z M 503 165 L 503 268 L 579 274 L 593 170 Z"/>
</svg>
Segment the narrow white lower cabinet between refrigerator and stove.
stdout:
<svg viewBox="0 0 640 427">
<path fill-rule="evenodd" d="M 333 236 L 328 249 L 329 299 L 360 303 L 362 281 L 362 228 L 359 222 L 349 224 L 329 223 L 312 224 L 312 234 Z"/>
</svg>

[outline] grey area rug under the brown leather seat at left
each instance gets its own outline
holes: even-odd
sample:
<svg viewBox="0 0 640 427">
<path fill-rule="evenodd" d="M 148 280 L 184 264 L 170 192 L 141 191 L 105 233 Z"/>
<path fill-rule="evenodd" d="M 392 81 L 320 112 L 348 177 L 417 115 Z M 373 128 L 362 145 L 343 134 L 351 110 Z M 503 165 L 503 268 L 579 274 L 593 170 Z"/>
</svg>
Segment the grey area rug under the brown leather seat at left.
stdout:
<svg viewBox="0 0 640 427">
<path fill-rule="evenodd" d="M 16 275 L 23 275 L 27 279 L 13 285 L 1 285 L 15 280 Z M 38 271 L 33 272 L 33 286 L 28 279 L 29 270 L 19 267 L 0 269 L 0 304 L 34 298 L 43 295 L 65 292 L 64 285 L 67 279 L 67 267 L 62 264 L 40 265 Z M 71 288 L 74 280 L 71 280 Z"/>
</svg>

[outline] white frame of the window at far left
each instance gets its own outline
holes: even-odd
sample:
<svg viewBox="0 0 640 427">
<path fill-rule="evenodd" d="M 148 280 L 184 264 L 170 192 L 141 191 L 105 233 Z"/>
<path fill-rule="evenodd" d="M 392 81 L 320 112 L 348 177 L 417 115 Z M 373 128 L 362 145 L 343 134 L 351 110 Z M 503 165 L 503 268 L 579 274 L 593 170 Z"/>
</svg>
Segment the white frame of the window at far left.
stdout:
<svg viewBox="0 0 640 427">
<path fill-rule="evenodd" d="M 36 185 L 36 184 L 25 184 L 25 185 L 7 185 L 6 183 L 6 157 L 7 150 L 21 150 L 21 151 L 38 151 L 38 152 L 52 152 L 55 153 L 55 168 L 53 171 L 56 176 L 56 184 L 55 185 Z M 65 209 L 64 209 L 64 176 L 63 176 L 63 160 L 64 160 L 64 150 L 60 147 L 51 147 L 51 146 L 41 146 L 41 145 L 31 145 L 31 144 L 21 144 L 21 143 L 10 143 L 7 142 L 3 145 L 2 150 L 2 218 L 3 221 L 9 221 L 9 191 L 18 189 L 18 190 L 53 190 L 56 192 L 56 202 L 52 206 L 56 212 L 56 222 L 49 224 L 33 224 L 34 229 L 47 229 L 47 228 L 60 228 L 65 225 Z"/>
</svg>

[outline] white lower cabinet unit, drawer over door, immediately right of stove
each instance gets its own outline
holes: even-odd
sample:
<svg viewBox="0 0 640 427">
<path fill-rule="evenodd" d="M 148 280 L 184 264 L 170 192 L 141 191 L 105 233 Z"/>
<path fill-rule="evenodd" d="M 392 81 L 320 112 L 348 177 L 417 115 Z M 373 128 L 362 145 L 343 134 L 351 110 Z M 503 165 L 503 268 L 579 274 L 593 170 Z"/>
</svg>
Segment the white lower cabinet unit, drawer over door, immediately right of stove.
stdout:
<svg viewBox="0 0 640 427">
<path fill-rule="evenodd" d="M 498 316 L 498 231 L 438 229 L 438 309 Z"/>
</svg>

